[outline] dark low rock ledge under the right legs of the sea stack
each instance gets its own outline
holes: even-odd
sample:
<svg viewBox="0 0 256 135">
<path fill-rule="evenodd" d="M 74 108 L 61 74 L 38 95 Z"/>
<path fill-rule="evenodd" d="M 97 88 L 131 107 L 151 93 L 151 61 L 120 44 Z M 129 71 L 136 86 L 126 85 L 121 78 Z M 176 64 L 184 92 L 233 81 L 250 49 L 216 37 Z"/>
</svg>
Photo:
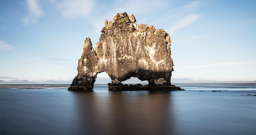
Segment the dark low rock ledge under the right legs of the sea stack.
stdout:
<svg viewBox="0 0 256 135">
<path fill-rule="evenodd" d="M 182 91 L 180 87 L 170 86 L 151 86 L 151 85 L 112 85 L 108 84 L 109 91 Z"/>
</svg>

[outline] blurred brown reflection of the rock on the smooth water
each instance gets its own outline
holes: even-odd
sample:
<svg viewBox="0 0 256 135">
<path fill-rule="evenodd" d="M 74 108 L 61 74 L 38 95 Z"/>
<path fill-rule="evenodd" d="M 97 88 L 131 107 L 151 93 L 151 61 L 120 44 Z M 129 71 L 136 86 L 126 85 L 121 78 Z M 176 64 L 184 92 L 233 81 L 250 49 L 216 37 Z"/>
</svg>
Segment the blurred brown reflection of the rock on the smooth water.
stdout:
<svg viewBox="0 0 256 135">
<path fill-rule="evenodd" d="M 84 134 L 172 134 L 171 93 L 74 92 Z"/>
</svg>

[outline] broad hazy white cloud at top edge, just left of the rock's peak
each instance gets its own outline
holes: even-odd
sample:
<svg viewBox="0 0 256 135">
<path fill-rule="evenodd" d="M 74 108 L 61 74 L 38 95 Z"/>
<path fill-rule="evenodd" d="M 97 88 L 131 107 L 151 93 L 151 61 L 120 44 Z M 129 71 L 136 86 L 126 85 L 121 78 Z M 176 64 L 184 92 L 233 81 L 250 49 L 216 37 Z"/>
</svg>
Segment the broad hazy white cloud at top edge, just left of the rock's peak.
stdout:
<svg viewBox="0 0 256 135">
<path fill-rule="evenodd" d="M 54 1 L 57 9 L 65 18 L 88 17 L 90 11 L 94 8 L 95 1 L 91 0 L 62 0 Z"/>
</svg>

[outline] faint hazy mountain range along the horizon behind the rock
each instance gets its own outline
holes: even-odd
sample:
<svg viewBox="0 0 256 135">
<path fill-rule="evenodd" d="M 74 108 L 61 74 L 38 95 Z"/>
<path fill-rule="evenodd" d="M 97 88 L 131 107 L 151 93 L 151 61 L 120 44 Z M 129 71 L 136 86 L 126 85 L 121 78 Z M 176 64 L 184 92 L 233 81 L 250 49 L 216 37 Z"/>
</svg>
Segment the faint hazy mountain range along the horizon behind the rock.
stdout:
<svg viewBox="0 0 256 135">
<path fill-rule="evenodd" d="M 15 79 L 8 82 L 0 80 L 0 85 L 29 85 L 29 84 L 72 84 L 73 80 L 46 80 L 42 82 L 29 82 L 26 79 Z M 108 84 L 111 83 L 110 78 L 96 78 L 95 84 Z M 138 78 L 131 77 L 130 79 L 122 82 L 123 84 L 148 84 L 147 81 L 141 81 Z M 185 84 L 185 83 L 256 83 L 256 80 L 253 81 L 217 81 L 217 80 L 194 80 L 188 78 L 172 78 L 172 84 Z"/>
</svg>

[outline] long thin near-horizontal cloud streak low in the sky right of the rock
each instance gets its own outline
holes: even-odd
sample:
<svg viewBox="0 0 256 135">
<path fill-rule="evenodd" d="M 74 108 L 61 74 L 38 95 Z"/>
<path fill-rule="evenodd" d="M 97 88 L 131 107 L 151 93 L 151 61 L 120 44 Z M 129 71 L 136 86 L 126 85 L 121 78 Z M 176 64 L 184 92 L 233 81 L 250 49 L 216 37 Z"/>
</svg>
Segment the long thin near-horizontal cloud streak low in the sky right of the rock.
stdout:
<svg viewBox="0 0 256 135">
<path fill-rule="evenodd" d="M 205 68 L 205 67 L 218 67 L 218 66 L 227 66 L 227 65 L 244 65 L 244 64 L 252 64 L 256 63 L 256 61 L 249 61 L 249 62 L 232 62 L 232 63 L 214 63 L 208 65 L 198 65 L 198 66 L 189 66 L 189 67 L 181 67 L 182 69 L 187 68 Z"/>
</svg>

